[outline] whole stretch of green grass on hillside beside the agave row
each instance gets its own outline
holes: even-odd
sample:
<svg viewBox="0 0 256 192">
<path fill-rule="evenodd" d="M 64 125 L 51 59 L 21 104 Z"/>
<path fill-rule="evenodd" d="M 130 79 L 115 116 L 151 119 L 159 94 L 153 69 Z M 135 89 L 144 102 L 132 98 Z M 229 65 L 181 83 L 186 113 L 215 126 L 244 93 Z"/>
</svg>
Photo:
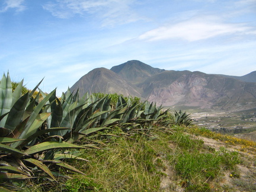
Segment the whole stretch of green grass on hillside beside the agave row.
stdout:
<svg viewBox="0 0 256 192">
<path fill-rule="evenodd" d="M 239 181 L 240 189 L 254 188 L 251 182 L 246 185 L 236 168 L 244 162 L 239 152 L 207 148 L 203 140 L 188 132 L 216 134 L 193 127 L 172 127 L 168 132 L 152 130 L 150 136 L 137 133 L 111 137 L 104 140 L 102 149 L 81 150 L 81 157 L 88 162 L 69 160 L 85 175 L 69 174 L 72 178 L 51 187 L 46 183 L 23 186 L 24 191 L 234 191 L 235 184 L 220 184 L 225 173 Z M 162 183 L 164 178 L 168 184 Z"/>
</svg>

